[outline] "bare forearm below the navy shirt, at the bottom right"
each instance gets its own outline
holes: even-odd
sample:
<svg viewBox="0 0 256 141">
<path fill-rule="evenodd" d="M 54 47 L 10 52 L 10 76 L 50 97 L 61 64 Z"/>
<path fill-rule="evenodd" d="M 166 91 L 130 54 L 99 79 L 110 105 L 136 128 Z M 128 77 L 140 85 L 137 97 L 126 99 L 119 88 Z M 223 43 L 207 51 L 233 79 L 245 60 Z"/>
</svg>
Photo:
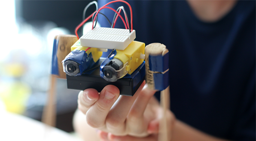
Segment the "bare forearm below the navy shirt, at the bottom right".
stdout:
<svg viewBox="0 0 256 141">
<path fill-rule="evenodd" d="M 186 123 L 176 120 L 171 141 L 228 141 L 201 132 Z"/>
</svg>

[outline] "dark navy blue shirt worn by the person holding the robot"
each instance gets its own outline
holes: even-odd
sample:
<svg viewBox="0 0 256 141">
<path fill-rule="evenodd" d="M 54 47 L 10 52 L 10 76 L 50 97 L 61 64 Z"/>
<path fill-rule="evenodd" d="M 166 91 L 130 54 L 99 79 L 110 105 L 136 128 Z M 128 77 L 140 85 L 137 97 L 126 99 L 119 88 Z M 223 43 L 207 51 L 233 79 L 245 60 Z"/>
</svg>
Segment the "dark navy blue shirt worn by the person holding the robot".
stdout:
<svg viewBox="0 0 256 141">
<path fill-rule="evenodd" d="M 98 2 L 101 7 L 108 0 Z M 136 40 L 160 42 L 170 51 L 171 111 L 177 119 L 219 138 L 255 141 L 255 1 L 238 1 L 210 23 L 200 21 L 186 1 L 128 3 Z M 112 21 L 114 12 L 102 12 Z M 98 21 L 110 27 L 103 16 Z M 124 28 L 120 19 L 116 28 Z"/>
</svg>

